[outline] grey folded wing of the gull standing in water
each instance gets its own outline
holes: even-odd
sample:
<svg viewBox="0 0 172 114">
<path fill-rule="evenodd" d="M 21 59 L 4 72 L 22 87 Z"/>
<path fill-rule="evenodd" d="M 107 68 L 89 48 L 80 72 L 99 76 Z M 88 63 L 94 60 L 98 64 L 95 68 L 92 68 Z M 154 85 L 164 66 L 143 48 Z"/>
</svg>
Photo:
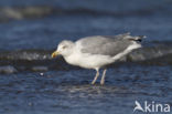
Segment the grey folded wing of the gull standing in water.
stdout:
<svg viewBox="0 0 172 114">
<path fill-rule="evenodd" d="M 116 37 L 89 37 L 82 39 L 82 52 L 114 56 L 125 51 L 131 41 Z"/>
</svg>

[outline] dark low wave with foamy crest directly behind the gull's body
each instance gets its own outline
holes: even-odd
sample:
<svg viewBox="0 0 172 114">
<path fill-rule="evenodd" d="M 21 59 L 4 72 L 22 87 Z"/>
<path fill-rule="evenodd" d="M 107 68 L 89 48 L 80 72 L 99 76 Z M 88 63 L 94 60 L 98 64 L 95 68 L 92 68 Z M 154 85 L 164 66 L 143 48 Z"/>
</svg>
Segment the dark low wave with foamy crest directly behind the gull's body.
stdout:
<svg viewBox="0 0 172 114">
<path fill-rule="evenodd" d="M 53 50 L 20 50 L 0 52 L 0 73 L 17 71 L 74 70 L 62 56 L 52 59 Z M 115 64 L 171 65 L 172 46 L 157 45 L 138 49 Z"/>
</svg>

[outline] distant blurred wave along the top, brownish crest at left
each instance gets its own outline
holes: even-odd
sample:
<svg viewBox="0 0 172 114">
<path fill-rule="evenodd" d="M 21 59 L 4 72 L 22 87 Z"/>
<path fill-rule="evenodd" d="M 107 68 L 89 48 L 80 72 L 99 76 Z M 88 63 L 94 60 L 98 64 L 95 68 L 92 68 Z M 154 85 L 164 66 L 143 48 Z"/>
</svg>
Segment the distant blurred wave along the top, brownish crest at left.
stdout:
<svg viewBox="0 0 172 114">
<path fill-rule="evenodd" d="M 162 6 L 164 4 L 164 6 Z M 23 7 L 1 7 L 0 8 L 0 22 L 7 22 L 10 20 L 22 20 L 28 18 L 43 18 L 47 15 L 58 14 L 87 14 L 87 15 L 110 15 L 110 17 L 131 17 L 131 15 L 152 15 L 152 14 L 168 14 L 171 12 L 171 8 L 168 7 L 168 2 L 162 4 L 152 4 L 152 7 L 138 7 L 141 4 L 119 8 L 109 7 L 107 9 L 100 6 L 23 6 Z M 166 6 L 166 7 L 165 7 Z"/>
</svg>

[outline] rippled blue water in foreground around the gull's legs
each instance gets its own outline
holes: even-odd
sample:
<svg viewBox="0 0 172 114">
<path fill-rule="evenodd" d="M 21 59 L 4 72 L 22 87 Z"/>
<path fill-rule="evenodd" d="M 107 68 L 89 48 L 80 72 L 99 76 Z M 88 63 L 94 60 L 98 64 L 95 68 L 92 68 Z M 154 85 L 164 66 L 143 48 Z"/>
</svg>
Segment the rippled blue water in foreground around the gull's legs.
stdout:
<svg viewBox="0 0 172 114">
<path fill-rule="evenodd" d="M 135 101 L 171 104 L 171 69 L 117 66 L 108 70 L 104 86 L 89 84 L 95 75 L 89 70 L 0 75 L 0 113 L 132 114 Z"/>
</svg>

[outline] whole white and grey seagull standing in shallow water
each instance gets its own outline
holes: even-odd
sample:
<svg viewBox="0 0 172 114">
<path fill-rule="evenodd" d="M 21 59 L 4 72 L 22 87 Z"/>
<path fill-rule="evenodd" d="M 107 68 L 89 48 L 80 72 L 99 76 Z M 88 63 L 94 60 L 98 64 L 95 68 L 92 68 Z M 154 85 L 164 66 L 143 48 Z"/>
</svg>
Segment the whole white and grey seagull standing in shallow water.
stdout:
<svg viewBox="0 0 172 114">
<path fill-rule="evenodd" d="M 96 70 L 92 84 L 95 84 L 99 76 L 99 69 L 104 68 L 100 80 L 103 85 L 107 71 L 106 66 L 141 48 L 142 38 L 144 37 L 131 37 L 130 33 L 123 33 L 86 37 L 75 42 L 63 40 L 58 43 L 56 51 L 52 53 L 52 58 L 62 55 L 68 64 Z"/>
</svg>

